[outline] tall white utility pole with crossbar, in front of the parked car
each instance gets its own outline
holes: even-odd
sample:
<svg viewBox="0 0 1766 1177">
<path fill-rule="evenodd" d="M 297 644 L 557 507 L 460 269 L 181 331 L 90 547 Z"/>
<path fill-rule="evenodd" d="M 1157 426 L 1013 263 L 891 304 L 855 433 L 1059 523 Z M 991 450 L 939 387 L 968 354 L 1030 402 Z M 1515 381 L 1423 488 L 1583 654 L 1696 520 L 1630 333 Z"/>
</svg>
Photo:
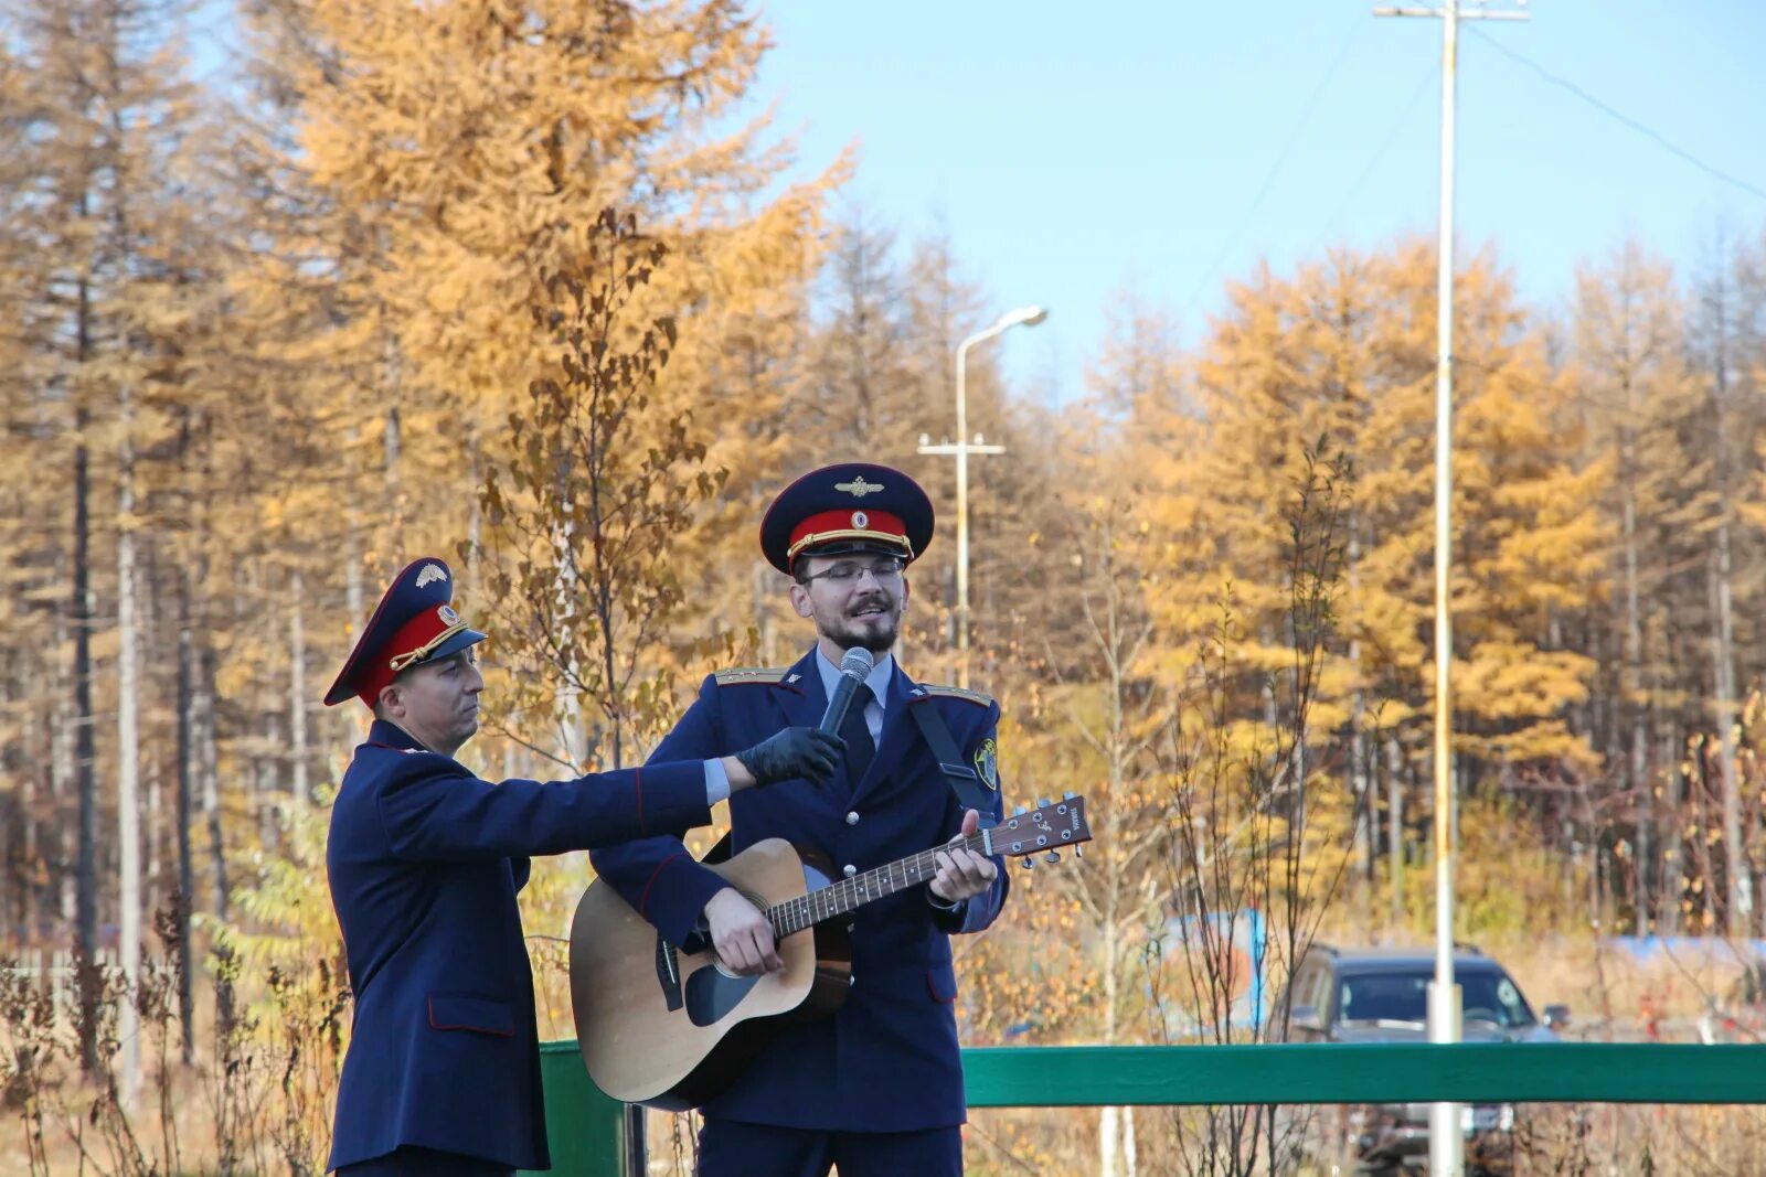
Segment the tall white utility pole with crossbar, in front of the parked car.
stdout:
<svg viewBox="0 0 1766 1177">
<path fill-rule="evenodd" d="M 1526 4 L 1526 0 L 1521 0 Z M 1436 252 L 1436 708 L 1434 708 L 1434 858 L 1436 976 L 1429 985 L 1429 1041 L 1460 1039 L 1459 986 L 1453 983 L 1453 614 L 1448 582 L 1453 568 L 1453 99 L 1459 90 L 1459 21 L 1524 21 L 1526 12 L 1492 12 L 1478 0 L 1441 0 L 1441 7 L 1379 7 L 1374 16 L 1441 19 L 1441 217 Z M 1460 1105 L 1429 1106 L 1429 1173 L 1460 1177 L 1466 1140 Z"/>
</svg>

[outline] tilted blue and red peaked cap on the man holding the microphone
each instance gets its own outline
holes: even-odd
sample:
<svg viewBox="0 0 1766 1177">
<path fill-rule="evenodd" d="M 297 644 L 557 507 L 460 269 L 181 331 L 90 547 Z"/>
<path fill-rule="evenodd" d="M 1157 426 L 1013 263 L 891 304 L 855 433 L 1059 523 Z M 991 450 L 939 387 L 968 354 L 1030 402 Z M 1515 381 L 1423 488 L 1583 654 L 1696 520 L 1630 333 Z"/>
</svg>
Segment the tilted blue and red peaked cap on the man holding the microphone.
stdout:
<svg viewBox="0 0 1766 1177">
<path fill-rule="evenodd" d="M 482 642 L 484 633 L 466 628 L 452 600 L 454 574 L 447 561 L 424 558 L 406 565 L 392 577 L 337 681 L 325 692 L 325 706 L 355 695 L 373 708 L 403 671 Z"/>
</svg>

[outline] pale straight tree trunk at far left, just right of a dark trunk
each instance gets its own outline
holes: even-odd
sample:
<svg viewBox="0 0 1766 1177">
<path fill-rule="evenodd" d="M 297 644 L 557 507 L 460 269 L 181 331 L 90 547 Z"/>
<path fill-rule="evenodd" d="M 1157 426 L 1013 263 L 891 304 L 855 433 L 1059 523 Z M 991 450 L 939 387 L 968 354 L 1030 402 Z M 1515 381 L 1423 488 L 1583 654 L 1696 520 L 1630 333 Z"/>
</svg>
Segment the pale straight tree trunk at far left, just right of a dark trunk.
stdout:
<svg viewBox="0 0 1766 1177">
<path fill-rule="evenodd" d="M 117 471 L 117 949 L 127 993 L 117 1011 L 122 1043 L 120 1096 L 134 1103 L 141 1085 L 141 1023 L 134 993 L 141 985 L 141 734 L 140 635 L 136 633 L 134 443 L 129 390 L 118 397 L 122 439 Z"/>
</svg>

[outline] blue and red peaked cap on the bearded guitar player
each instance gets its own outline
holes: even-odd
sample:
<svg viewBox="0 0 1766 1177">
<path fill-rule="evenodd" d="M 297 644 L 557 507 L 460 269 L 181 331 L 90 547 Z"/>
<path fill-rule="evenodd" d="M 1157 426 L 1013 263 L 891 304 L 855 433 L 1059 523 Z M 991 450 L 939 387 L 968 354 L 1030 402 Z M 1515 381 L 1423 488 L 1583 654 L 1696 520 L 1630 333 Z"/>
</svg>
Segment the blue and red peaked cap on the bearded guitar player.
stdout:
<svg viewBox="0 0 1766 1177">
<path fill-rule="evenodd" d="M 802 556 L 883 552 L 911 563 L 931 542 L 932 499 L 920 484 L 869 462 L 809 471 L 761 517 L 761 552 L 786 575 Z"/>
</svg>

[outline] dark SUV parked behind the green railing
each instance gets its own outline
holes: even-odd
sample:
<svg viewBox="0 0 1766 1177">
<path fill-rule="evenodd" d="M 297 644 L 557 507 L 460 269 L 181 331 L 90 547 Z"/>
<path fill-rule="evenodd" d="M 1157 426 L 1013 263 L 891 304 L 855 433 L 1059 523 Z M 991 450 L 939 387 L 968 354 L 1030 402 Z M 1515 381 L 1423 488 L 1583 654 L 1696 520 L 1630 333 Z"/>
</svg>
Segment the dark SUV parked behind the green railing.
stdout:
<svg viewBox="0 0 1766 1177">
<path fill-rule="evenodd" d="M 1275 1008 L 1289 1009 L 1293 1043 L 1427 1041 L 1432 979 L 1434 955 L 1427 949 L 1314 944 Z M 1570 1022 L 1566 1006 L 1547 1006 L 1536 1016 L 1508 971 L 1475 948 L 1453 953 L 1453 979 L 1460 986 L 1464 1041 L 1556 1041 L 1556 1031 Z M 1462 1106 L 1468 1172 L 1510 1172 L 1513 1126 L 1512 1103 Z M 1422 1168 L 1429 1161 L 1429 1105 L 1333 1108 L 1310 1117 L 1302 1136 L 1302 1149 L 1324 1172 Z"/>
</svg>

